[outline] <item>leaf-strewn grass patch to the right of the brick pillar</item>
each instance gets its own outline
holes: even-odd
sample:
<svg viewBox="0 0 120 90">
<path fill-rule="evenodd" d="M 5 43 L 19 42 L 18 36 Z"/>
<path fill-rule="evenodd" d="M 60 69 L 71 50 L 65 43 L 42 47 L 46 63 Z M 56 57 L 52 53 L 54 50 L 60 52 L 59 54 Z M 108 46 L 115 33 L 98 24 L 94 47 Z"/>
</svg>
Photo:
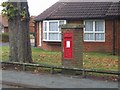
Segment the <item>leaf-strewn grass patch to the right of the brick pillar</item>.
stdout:
<svg viewBox="0 0 120 90">
<path fill-rule="evenodd" d="M 118 70 L 118 56 L 111 53 L 84 53 L 84 67 L 99 70 Z"/>
</svg>

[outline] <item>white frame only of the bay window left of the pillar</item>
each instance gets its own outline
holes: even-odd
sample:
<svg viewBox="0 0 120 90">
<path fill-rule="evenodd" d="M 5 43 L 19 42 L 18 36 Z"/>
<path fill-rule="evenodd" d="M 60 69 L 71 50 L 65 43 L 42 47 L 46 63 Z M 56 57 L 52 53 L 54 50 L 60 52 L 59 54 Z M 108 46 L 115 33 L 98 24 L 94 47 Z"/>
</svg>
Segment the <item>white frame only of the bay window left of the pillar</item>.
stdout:
<svg viewBox="0 0 120 90">
<path fill-rule="evenodd" d="M 57 31 L 50 31 L 49 30 L 49 23 L 50 22 L 57 22 L 58 23 L 58 26 L 59 26 L 59 22 L 60 21 L 64 21 L 64 24 L 66 24 L 66 20 L 45 20 L 43 21 L 43 41 L 49 41 L 49 42 L 61 42 L 61 40 L 50 40 L 49 39 L 49 34 L 50 33 L 57 33 L 59 35 L 61 35 L 61 30 L 60 28 L 58 28 Z M 47 23 L 47 30 L 45 31 L 45 23 Z M 44 38 L 44 33 L 47 33 L 47 39 Z M 59 35 L 58 35 L 58 39 L 59 39 Z"/>
</svg>

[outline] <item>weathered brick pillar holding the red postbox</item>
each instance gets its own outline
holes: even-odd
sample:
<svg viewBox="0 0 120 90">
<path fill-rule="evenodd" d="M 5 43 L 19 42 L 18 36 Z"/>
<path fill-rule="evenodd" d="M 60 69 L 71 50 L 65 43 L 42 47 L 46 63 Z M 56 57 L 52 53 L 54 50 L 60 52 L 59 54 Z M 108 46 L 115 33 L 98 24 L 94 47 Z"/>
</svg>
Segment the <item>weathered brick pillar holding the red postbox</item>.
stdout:
<svg viewBox="0 0 120 90">
<path fill-rule="evenodd" d="M 62 65 L 83 68 L 83 25 L 62 25 Z"/>
</svg>

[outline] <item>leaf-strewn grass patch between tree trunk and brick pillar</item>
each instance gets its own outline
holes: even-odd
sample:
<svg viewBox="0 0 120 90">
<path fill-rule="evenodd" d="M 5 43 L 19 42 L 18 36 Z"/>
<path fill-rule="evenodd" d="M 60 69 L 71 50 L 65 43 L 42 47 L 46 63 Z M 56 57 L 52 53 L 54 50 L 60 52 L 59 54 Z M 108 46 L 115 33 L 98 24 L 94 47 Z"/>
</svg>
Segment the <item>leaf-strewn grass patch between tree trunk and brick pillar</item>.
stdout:
<svg viewBox="0 0 120 90">
<path fill-rule="evenodd" d="M 33 61 L 40 64 L 61 65 L 61 53 L 45 51 L 40 48 L 32 48 Z"/>
</svg>

